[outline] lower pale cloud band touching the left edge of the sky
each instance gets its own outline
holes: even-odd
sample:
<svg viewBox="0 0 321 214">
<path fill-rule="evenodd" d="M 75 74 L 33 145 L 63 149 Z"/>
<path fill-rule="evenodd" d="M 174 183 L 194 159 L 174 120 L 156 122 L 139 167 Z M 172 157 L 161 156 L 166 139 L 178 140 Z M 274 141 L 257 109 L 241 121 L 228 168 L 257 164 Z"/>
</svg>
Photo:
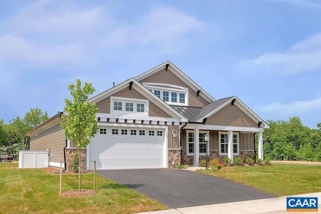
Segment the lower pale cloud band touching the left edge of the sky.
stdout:
<svg viewBox="0 0 321 214">
<path fill-rule="evenodd" d="M 0 61 L 33 64 L 75 63 L 84 60 L 85 48 L 81 42 L 66 45 L 42 45 L 27 42 L 24 38 L 7 34 L 0 37 Z"/>
</svg>

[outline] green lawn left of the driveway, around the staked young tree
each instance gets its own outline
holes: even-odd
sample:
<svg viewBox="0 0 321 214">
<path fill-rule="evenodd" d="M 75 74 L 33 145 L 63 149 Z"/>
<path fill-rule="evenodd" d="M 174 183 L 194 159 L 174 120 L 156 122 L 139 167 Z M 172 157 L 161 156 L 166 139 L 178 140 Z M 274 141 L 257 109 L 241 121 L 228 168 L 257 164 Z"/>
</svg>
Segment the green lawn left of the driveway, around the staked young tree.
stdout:
<svg viewBox="0 0 321 214">
<path fill-rule="evenodd" d="M 59 174 L 43 169 L 19 169 L 18 163 L 0 163 L 1 213 L 134 213 L 168 209 L 145 195 L 96 176 L 97 194 L 59 196 Z M 62 190 L 78 189 L 78 175 L 64 174 Z M 93 189 L 93 173 L 82 175 L 82 188 Z"/>
</svg>

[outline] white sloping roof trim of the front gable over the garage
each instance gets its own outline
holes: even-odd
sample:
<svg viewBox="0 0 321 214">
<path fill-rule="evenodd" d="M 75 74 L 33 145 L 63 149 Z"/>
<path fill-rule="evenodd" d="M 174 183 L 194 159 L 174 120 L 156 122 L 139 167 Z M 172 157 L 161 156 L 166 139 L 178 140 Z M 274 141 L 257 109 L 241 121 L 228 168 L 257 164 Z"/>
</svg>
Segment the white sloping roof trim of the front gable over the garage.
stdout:
<svg viewBox="0 0 321 214">
<path fill-rule="evenodd" d="M 132 82 L 131 87 L 133 87 L 136 91 L 138 91 L 140 94 L 142 94 L 148 100 L 150 100 L 151 102 L 156 104 L 158 107 L 162 108 L 163 110 L 166 109 L 166 112 L 169 115 L 171 115 L 173 118 L 181 119 L 182 122 L 188 122 L 188 119 L 185 116 L 183 116 L 179 112 L 175 111 L 173 108 L 171 108 L 171 106 L 169 104 L 164 102 L 162 99 L 159 99 L 154 93 L 150 92 L 146 87 L 141 85 L 134 78 L 130 78 L 130 79 L 116 85 L 115 87 L 112 87 L 112 88 L 88 99 L 88 101 L 93 102 L 93 103 L 97 103 L 100 100 L 103 100 L 103 99 L 111 96 L 112 94 L 114 94 L 114 93 L 116 93 L 126 87 L 129 87 L 131 82 Z"/>
</svg>

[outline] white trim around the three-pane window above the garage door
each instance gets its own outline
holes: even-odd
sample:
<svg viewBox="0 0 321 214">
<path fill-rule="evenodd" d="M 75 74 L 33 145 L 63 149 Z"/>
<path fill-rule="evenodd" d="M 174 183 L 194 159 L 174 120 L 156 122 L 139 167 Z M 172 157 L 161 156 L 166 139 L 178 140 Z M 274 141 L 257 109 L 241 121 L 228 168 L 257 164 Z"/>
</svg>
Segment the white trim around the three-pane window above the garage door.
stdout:
<svg viewBox="0 0 321 214">
<path fill-rule="evenodd" d="M 122 102 L 122 110 L 114 110 L 114 102 Z M 133 103 L 133 111 L 126 111 L 125 103 Z M 144 104 L 144 112 L 137 112 L 137 104 Z M 148 100 L 124 98 L 124 97 L 110 97 L 110 113 L 115 115 L 137 115 L 149 116 L 149 102 Z"/>
</svg>

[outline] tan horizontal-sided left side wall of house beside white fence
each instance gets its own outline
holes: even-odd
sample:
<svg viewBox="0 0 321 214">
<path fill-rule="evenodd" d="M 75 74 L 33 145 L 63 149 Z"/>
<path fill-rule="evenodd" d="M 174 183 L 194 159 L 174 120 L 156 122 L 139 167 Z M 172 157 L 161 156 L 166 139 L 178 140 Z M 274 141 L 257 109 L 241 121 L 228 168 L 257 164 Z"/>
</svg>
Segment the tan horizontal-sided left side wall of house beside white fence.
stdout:
<svg viewBox="0 0 321 214">
<path fill-rule="evenodd" d="M 46 150 L 50 147 L 50 153 L 53 154 L 50 162 L 60 163 L 64 160 L 65 146 L 66 137 L 60 124 L 30 137 L 30 150 Z"/>
</svg>

